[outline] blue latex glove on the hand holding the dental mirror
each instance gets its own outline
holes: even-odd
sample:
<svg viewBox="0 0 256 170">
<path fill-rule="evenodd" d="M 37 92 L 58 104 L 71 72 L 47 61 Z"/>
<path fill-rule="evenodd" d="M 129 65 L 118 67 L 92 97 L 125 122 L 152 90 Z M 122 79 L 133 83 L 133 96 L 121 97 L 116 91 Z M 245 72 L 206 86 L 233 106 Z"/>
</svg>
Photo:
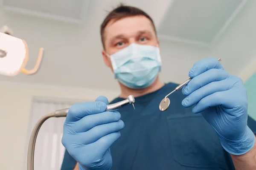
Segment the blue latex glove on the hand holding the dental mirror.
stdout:
<svg viewBox="0 0 256 170">
<path fill-rule="evenodd" d="M 196 62 L 189 77 L 192 80 L 182 89 L 187 95 L 182 105 L 195 105 L 193 113 L 202 113 L 228 153 L 241 155 L 251 150 L 255 136 L 247 126 L 247 92 L 242 80 L 212 58 Z"/>
</svg>

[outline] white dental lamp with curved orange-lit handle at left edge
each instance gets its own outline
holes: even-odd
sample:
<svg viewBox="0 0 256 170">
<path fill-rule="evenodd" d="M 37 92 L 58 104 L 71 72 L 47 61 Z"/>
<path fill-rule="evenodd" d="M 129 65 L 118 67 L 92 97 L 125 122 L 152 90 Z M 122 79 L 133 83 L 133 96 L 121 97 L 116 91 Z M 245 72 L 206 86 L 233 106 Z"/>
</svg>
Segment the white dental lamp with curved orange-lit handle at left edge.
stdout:
<svg viewBox="0 0 256 170">
<path fill-rule="evenodd" d="M 41 64 L 44 48 L 39 49 L 38 59 L 32 70 L 25 68 L 29 60 L 29 48 L 25 40 L 0 32 L 0 74 L 16 76 L 20 72 L 26 75 L 35 74 Z"/>
</svg>

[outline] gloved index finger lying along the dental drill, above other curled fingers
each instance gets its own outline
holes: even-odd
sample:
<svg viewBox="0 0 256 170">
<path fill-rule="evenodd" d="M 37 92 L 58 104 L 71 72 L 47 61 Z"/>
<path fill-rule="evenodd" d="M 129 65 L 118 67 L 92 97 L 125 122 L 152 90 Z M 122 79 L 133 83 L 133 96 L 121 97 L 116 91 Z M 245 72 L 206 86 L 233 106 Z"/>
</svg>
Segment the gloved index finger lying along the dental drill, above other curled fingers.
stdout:
<svg viewBox="0 0 256 170">
<path fill-rule="evenodd" d="M 84 102 L 72 105 L 66 117 L 66 122 L 76 122 L 84 116 L 102 113 L 106 111 L 107 105 L 104 102 Z"/>
</svg>

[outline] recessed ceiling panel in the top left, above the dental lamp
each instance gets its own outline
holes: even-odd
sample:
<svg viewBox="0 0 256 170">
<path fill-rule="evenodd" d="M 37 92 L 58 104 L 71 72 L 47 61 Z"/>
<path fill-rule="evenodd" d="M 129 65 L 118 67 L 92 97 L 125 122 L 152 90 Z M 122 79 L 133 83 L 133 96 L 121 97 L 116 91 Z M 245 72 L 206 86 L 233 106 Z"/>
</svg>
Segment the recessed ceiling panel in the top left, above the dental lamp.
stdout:
<svg viewBox="0 0 256 170">
<path fill-rule="evenodd" d="M 80 20 L 84 6 L 89 0 L 3 0 L 3 6 L 9 11 L 34 16 L 59 18 L 62 20 Z"/>
</svg>

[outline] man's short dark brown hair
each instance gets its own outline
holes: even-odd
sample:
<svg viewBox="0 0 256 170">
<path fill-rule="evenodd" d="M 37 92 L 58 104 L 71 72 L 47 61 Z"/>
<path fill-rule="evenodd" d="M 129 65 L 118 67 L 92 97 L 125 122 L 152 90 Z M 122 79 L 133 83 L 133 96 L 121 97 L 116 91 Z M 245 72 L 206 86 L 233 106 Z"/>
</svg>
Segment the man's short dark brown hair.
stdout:
<svg viewBox="0 0 256 170">
<path fill-rule="evenodd" d="M 105 27 L 108 25 L 108 23 L 111 20 L 117 21 L 117 20 L 120 20 L 125 17 L 134 17 L 137 15 L 143 15 L 143 16 L 147 17 L 151 21 L 152 26 L 154 27 L 155 33 L 157 33 L 156 28 L 154 26 L 154 21 L 147 13 L 145 13 L 143 10 L 133 7 L 133 6 L 125 6 L 123 4 L 120 4 L 117 8 L 115 8 L 111 12 L 109 12 L 107 17 L 105 17 L 105 20 L 103 20 L 103 22 L 101 24 L 100 35 L 101 35 L 103 48 L 105 48 L 104 30 L 105 30 Z"/>
</svg>

